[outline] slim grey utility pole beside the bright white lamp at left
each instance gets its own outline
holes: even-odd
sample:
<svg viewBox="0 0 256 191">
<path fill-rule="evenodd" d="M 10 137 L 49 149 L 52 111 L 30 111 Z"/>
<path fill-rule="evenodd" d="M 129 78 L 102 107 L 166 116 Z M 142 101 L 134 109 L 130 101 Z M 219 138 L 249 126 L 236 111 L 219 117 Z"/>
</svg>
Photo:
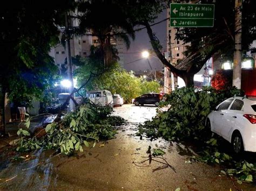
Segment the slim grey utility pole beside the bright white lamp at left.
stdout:
<svg viewBox="0 0 256 191">
<path fill-rule="evenodd" d="M 72 68 L 72 60 L 71 60 L 71 52 L 70 52 L 70 32 L 69 32 L 69 20 L 68 20 L 68 13 L 65 14 L 65 27 L 66 27 L 66 60 L 68 63 L 68 79 L 71 82 L 71 86 L 69 88 L 69 93 L 71 94 L 74 89 L 73 83 L 73 68 Z M 74 94 L 71 94 L 74 97 Z M 72 99 L 70 99 L 70 111 L 75 109 L 75 104 L 73 103 Z"/>
</svg>

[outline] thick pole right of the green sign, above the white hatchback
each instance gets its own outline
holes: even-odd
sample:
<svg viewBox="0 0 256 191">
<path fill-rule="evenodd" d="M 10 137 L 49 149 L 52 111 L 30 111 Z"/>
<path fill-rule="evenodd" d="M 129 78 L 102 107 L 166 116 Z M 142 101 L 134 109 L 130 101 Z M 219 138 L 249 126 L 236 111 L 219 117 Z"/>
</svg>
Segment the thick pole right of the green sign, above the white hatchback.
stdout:
<svg viewBox="0 0 256 191">
<path fill-rule="evenodd" d="M 241 89 L 241 41 L 242 41 L 242 0 L 235 0 L 235 50 L 233 66 L 233 86 Z"/>
</svg>

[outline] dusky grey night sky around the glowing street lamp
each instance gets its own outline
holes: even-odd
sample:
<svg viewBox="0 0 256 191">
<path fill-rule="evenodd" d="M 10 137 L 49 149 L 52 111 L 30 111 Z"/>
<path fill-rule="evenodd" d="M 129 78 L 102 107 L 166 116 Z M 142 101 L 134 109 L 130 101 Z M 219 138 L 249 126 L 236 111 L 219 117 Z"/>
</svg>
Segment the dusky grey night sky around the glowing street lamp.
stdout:
<svg viewBox="0 0 256 191">
<path fill-rule="evenodd" d="M 159 22 L 166 18 L 166 10 L 163 11 L 155 22 Z M 142 27 L 142 26 L 139 26 Z M 163 46 L 163 51 L 166 51 L 166 21 L 152 26 L 152 30 L 157 34 L 161 45 Z M 150 44 L 149 36 L 147 35 L 146 29 L 136 32 L 136 38 L 134 41 L 131 40 L 130 49 L 124 54 L 124 68 L 126 70 L 147 70 L 150 69 L 149 63 L 145 58 L 142 59 L 142 52 L 152 49 Z M 141 59 L 141 60 L 139 60 Z M 139 60 L 139 61 L 136 61 Z M 161 70 L 163 64 L 159 59 L 154 56 L 149 57 L 150 64 L 153 69 Z"/>
</svg>

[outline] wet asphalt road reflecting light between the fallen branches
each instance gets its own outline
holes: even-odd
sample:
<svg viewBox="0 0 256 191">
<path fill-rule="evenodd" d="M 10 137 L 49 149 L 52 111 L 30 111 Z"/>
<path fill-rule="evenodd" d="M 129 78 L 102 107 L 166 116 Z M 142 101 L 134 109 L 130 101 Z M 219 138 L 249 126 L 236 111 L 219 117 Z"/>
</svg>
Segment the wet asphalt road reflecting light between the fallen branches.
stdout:
<svg viewBox="0 0 256 191">
<path fill-rule="evenodd" d="M 116 139 L 99 142 L 96 147 L 84 148 L 83 153 L 71 157 L 51 158 L 52 151 L 37 151 L 33 153 L 34 159 L 1 165 L 0 189 L 256 190 L 253 185 L 238 185 L 221 175 L 219 166 L 191 164 L 187 160 L 193 152 L 189 146 L 133 136 L 138 123 L 156 115 L 156 107 L 123 105 L 114 109 L 114 115 L 129 122 L 118 130 Z M 161 158 L 155 158 L 160 162 L 152 160 L 149 164 L 146 153 L 149 146 L 164 150 L 164 159 L 170 166 L 164 168 L 166 161 Z"/>
</svg>

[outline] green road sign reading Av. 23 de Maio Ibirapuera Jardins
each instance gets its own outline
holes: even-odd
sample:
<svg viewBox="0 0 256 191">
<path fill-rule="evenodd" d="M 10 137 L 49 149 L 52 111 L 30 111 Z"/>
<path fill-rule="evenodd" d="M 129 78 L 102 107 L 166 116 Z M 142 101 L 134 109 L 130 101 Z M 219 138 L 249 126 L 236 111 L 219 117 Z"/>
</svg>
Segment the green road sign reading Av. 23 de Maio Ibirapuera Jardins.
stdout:
<svg viewBox="0 0 256 191">
<path fill-rule="evenodd" d="M 214 4 L 170 4 L 171 27 L 212 27 Z"/>
</svg>

